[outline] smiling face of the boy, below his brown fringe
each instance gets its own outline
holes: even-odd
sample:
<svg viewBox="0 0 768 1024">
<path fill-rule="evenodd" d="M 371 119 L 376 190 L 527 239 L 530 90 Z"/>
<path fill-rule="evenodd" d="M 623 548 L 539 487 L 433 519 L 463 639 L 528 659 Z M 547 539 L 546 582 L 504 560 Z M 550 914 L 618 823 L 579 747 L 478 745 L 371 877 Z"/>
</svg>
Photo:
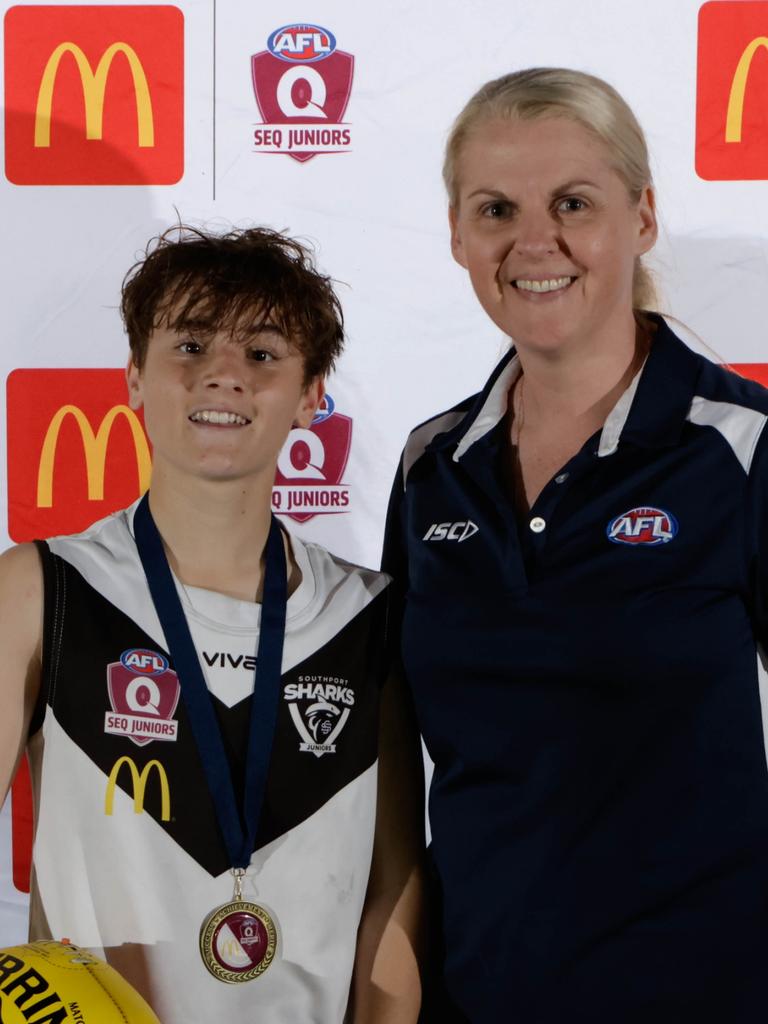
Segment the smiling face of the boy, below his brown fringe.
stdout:
<svg viewBox="0 0 768 1024">
<path fill-rule="evenodd" d="M 143 368 L 129 362 L 127 380 L 131 409 L 144 411 L 156 473 L 263 476 L 265 485 L 289 431 L 309 426 L 324 394 L 269 324 L 234 333 L 156 328 Z"/>
</svg>

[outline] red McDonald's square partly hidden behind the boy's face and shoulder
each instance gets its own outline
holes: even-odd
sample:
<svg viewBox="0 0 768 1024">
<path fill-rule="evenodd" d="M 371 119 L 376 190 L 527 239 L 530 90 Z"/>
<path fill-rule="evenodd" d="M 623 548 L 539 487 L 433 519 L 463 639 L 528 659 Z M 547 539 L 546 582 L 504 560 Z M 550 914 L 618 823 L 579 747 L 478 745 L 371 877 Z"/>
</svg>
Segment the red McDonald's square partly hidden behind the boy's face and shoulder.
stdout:
<svg viewBox="0 0 768 1024">
<path fill-rule="evenodd" d="M 8 532 L 85 529 L 150 485 L 140 414 L 122 370 L 14 370 L 7 381 Z"/>
</svg>

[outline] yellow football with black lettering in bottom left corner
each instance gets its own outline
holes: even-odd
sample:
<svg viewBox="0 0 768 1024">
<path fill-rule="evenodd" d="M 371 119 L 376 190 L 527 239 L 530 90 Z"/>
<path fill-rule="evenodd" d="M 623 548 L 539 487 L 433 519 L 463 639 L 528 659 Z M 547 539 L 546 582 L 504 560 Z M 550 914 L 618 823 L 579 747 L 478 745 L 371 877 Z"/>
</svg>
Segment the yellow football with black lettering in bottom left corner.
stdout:
<svg viewBox="0 0 768 1024">
<path fill-rule="evenodd" d="M 0 1024 L 160 1024 L 115 968 L 63 942 L 0 949 Z"/>
</svg>

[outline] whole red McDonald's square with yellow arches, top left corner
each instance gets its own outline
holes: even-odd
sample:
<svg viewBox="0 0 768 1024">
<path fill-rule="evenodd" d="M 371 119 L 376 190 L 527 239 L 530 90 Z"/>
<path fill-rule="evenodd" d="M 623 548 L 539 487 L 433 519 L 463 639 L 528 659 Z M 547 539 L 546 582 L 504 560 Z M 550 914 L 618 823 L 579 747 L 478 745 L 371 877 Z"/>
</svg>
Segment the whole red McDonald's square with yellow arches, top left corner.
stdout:
<svg viewBox="0 0 768 1024">
<path fill-rule="evenodd" d="M 7 11 L 5 174 L 14 184 L 173 184 L 183 111 L 177 7 Z"/>
</svg>

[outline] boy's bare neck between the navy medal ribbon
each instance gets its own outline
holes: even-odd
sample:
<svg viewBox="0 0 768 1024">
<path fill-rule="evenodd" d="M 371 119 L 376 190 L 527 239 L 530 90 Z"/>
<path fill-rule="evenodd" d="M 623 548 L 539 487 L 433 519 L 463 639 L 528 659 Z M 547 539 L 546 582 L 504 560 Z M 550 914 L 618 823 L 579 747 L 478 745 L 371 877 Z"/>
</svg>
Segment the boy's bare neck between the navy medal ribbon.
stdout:
<svg viewBox="0 0 768 1024">
<path fill-rule="evenodd" d="M 168 480 L 153 476 L 150 508 L 168 562 L 189 587 L 261 600 L 271 520 L 271 480 Z M 285 535 L 284 535 L 285 539 Z M 286 540 L 289 593 L 301 573 Z"/>
</svg>

